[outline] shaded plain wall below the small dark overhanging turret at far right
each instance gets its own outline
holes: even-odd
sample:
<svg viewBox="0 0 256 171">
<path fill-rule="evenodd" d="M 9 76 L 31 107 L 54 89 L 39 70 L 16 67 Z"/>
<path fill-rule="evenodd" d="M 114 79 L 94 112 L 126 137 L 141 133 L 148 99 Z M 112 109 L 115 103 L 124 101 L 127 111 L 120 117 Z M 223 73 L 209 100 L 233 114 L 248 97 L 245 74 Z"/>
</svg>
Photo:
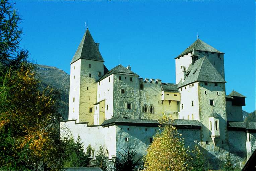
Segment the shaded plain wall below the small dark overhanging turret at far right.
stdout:
<svg viewBox="0 0 256 171">
<path fill-rule="evenodd" d="M 242 106 L 233 106 L 231 101 L 226 101 L 227 121 L 243 122 Z"/>
</svg>

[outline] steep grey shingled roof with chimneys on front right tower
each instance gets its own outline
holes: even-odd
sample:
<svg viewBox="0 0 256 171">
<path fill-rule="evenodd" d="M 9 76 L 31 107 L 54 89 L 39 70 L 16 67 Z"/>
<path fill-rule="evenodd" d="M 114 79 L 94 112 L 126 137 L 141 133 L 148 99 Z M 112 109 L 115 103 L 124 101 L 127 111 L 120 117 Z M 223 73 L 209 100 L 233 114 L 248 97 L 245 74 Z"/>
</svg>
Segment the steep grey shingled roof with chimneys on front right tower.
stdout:
<svg viewBox="0 0 256 171">
<path fill-rule="evenodd" d="M 189 65 L 186 78 L 178 83 L 178 88 L 196 81 L 226 82 L 206 56 Z"/>
</svg>

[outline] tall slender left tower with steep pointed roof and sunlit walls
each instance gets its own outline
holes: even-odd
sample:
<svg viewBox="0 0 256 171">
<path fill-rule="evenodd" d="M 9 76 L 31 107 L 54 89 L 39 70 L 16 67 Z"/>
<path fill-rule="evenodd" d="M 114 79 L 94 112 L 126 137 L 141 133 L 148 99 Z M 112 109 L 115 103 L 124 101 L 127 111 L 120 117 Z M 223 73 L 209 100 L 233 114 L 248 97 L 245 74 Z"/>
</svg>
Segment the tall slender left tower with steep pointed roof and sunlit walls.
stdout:
<svg viewBox="0 0 256 171">
<path fill-rule="evenodd" d="M 70 63 L 68 119 L 93 124 L 97 81 L 104 74 L 104 60 L 88 28 Z"/>
</svg>

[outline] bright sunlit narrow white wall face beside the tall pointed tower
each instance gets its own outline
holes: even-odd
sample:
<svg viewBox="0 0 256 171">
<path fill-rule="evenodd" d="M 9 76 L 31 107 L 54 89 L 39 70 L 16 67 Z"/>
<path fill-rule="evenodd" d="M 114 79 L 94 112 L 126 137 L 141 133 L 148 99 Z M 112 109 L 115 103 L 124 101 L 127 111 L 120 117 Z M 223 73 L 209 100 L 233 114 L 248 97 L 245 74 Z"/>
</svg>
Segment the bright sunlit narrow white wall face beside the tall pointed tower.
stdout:
<svg viewBox="0 0 256 171">
<path fill-rule="evenodd" d="M 97 87 L 97 102 L 105 99 L 105 119 L 111 119 L 113 116 L 114 75 L 111 74 L 97 82 Z"/>
</svg>

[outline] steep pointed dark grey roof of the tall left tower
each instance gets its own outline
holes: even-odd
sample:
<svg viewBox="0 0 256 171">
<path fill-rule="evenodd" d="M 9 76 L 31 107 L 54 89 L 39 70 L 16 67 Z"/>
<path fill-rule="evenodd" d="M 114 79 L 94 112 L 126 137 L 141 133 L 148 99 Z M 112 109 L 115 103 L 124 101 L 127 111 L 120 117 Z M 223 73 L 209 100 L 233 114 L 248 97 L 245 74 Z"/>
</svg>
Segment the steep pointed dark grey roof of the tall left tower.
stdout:
<svg viewBox="0 0 256 171">
<path fill-rule="evenodd" d="M 99 48 L 95 44 L 88 28 L 83 35 L 83 38 L 71 60 L 71 63 L 77 61 L 78 59 L 90 59 L 104 62 Z"/>
</svg>

